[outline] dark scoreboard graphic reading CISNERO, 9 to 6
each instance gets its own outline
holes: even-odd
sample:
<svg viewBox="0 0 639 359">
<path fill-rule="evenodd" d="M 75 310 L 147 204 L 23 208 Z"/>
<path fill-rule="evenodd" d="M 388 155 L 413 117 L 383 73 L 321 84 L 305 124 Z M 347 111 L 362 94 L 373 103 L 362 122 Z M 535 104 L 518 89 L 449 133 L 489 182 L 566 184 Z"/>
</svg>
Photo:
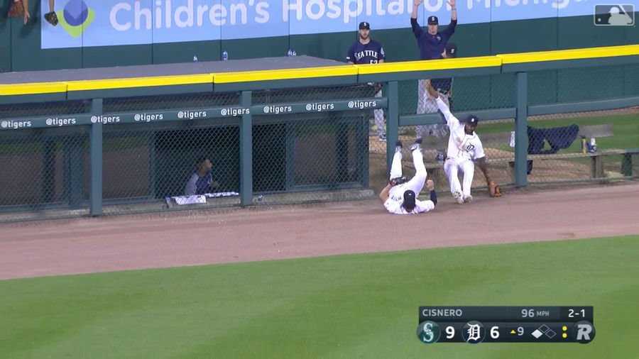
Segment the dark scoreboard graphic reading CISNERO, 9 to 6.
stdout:
<svg viewBox="0 0 639 359">
<path fill-rule="evenodd" d="M 590 343 L 592 306 L 420 306 L 422 343 Z"/>
</svg>

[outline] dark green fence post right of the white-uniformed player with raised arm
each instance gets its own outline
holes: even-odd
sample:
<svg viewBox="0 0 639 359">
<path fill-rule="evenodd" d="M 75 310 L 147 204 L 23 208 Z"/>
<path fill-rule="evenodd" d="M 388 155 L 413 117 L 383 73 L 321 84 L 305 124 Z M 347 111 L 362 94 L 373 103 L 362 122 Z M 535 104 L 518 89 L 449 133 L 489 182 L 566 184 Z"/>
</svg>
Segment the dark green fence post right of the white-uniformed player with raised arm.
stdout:
<svg viewBox="0 0 639 359">
<path fill-rule="evenodd" d="M 524 187 L 528 184 L 528 73 L 517 72 L 515 87 L 515 187 Z"/>
</svg>

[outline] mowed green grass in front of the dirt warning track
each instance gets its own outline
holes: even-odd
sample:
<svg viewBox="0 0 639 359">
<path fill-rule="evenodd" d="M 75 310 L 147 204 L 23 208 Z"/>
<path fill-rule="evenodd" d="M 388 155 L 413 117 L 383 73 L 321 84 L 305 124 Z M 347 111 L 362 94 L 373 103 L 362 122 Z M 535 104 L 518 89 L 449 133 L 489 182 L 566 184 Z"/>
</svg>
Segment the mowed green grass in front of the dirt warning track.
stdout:
<svg viewBox="0 0 639 359">
<path fill-rule="evenodd" d="M 0 281 L 1 358 L 637 358 L 639 236 Z M 417 340 L 420 305 L 592 305 L 583 345 Z"/>
</svg>

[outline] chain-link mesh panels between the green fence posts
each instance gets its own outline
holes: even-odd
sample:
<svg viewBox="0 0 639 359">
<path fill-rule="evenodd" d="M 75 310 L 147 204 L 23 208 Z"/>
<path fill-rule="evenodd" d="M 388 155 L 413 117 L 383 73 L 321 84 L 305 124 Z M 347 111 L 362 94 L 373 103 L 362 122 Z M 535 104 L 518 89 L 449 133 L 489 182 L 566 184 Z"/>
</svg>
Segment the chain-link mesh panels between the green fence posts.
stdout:
<svg viewBox="0 0 639 359">
<path fill-rule="evenodd" d="M 415 120 L 422 118 L 415 116 L 419 114 L 435 121 L 399 128 L 405 175 L 413 175 L 408 148 L 420 135 L 429 177 L 439 191 L 447 191 L 437 158 L 447 150 L 443 117 L 434 101 L 420 96 L 419 80 L 398 85 L 400 123 L 402 118 L 422 121 Z M 515 121 L 499 117 L 501 110 L 515 108 L 515 74 L 459 77 L 449 88 L 445 81 L 443 86 L 439 92 L 453 114 L 480 114 L 477 133 L 491 175 L 500 184 L 513 184 Z M 378 193 L 388 182 L 386 90 L 381 84 L 364 84 L 252 92 L 248 155 L 253 204 L 336 201 Z M 548 104 L 638 94 L 639 65 L 529 72 L 528 182 L 613 180 L 639 173 L 632 150 L 639 147 L 638 107 L 565 113 L 559 106 L 554 114 L 548 114 L 552 110 L 547 107 L 541 111 L 546 114 L 535 114 Z M 206 114 L 220 108 L 241 111 Z M 104 124 L 103 213 L 239 206 L 241 158 L 247 155 L 241 145 L 244 110 L 237 92 L 104 99 L 99 119 Z M 90 111 L 91 101 L 0 106 L 2 126 L 18 130 L 0 132 L 0 166 L 7 169 L 0 178 L 0 221 L 89 214 L 91 126 L 29 128 L 27 122 L 50 116 L 57 123 Z M 170 111 L 178 111 L 177 118 L 166 116 Z M 125 115 L 135 121 L 120 121 Z M 478 169 L 474 187 L 485 186 Z M 184 199 L 194 193 L 207 195 L 202 201 Z"/>
</svg>

